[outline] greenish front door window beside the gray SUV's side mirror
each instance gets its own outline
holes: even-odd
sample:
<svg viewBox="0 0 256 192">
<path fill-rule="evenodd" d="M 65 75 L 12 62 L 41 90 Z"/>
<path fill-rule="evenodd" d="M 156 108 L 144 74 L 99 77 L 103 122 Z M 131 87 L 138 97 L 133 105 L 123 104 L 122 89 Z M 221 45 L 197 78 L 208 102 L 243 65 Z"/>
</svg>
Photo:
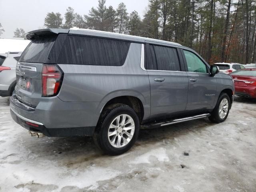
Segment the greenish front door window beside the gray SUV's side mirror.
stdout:
<svg viewBox="0 0 256 192">
<path fill-rule="evenodd" d="M 190 51 L 183 50 L 189 72 L 207 73 L 206 65 L 202 60 Z"/>
</svg>

